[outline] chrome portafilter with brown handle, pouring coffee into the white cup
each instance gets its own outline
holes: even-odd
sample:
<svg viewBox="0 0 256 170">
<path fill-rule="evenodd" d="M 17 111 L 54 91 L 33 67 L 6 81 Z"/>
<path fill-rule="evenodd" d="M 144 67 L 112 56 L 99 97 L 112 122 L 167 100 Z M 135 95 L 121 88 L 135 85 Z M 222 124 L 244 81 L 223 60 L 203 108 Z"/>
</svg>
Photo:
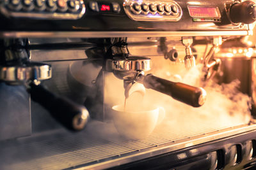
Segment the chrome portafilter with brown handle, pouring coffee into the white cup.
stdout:
<svg viewBox="0 0 256 170">
<path fill-rule="evenodd" d="M 147 89 L 156 90 L 193 107 L 200 107 L 205 103 L 206 92 L 201 87 L 176 83 L 153 74 L 145 75 L 144 71 L 149 70 L 150 59 L 147 57 L 115 57 L 106 61 L 106 71 L 111 71 L 117 78 L 124 80 L 125 97 L 129 97 L 131 85 L 138 82 Z"/>
</svg>

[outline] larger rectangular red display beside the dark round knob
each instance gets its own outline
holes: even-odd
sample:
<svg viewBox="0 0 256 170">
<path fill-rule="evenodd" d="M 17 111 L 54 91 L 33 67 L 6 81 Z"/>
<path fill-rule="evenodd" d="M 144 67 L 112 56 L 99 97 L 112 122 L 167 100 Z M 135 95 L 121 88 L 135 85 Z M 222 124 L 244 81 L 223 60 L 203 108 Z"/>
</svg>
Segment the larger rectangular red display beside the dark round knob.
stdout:
<svg viewBox="0 0 256 170">
<path fill-rule="evenodd" d="M 193 18 L 220 18 L 217 7 L 188 6 L 188 10 Z"/>
</svg>

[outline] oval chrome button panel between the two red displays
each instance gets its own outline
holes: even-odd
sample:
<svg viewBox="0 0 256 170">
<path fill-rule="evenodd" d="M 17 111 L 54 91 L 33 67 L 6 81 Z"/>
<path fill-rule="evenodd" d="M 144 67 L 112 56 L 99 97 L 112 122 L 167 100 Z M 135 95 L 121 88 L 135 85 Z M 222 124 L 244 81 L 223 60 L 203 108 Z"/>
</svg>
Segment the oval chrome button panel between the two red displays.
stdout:
<svg viewBox="0 0 256 170">
<path fill-rule="evenodd" d="M 125 13 L 138 21 L 177 22 L 182 17 L 182 8 L 175 1 L 134 1 L 124 2 Z"/>
</svg>

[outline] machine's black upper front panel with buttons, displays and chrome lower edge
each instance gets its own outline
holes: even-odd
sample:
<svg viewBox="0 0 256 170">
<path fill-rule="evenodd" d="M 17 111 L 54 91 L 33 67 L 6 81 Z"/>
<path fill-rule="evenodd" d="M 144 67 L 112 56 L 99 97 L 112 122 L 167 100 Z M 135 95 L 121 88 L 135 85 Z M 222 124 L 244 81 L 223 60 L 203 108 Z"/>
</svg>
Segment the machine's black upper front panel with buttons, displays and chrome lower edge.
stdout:
<svg viewBox="0 0 256 170">
<path fill-rule="evenodd" d="M 234 4 L 238 7 L 230 11 Z M 5 0 L 0 3 L 0 36 L 243 36 L 250 34 L 254 19 L 248 13 L 234 16 L 241 8 L 246 10 L 243 2 L 225 0 Z"/>
</svg>

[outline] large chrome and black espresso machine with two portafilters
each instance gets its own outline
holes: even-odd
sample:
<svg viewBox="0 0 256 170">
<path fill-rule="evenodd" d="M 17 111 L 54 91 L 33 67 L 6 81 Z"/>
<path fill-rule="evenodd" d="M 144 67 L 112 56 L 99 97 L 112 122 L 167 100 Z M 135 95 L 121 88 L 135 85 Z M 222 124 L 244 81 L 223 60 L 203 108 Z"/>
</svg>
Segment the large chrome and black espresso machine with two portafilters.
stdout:
<svg viewBox="0 0 256 170">
<path fill-rule="evenodd" d="M 177 75 L 201 64 L 207 85 L 218 46 L 252 35 L 255 9 L 226 0 L 1 1 L 0 169 L 253 169 L 253 121 L 200 120 L 207 89 Z M 145 99 L 168 104 L 163 123 L 134 140 L 118 134 L 111 108 L 137 83 Z"/>
</svg>

